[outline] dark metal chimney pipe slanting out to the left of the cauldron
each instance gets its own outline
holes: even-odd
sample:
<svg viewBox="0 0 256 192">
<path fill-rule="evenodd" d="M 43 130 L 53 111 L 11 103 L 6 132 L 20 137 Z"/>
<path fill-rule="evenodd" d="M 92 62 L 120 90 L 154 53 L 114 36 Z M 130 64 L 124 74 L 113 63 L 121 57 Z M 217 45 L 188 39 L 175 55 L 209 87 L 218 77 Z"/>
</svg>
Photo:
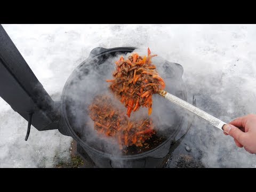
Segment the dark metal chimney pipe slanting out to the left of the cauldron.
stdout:
<svg viewBox="0 0 256 192">
<path fill-rule="evenodd" d="M 58 129 L 59 108 L 44 90 L 2 25 L 0 25 L 0 97 L 27 121 L 31 120 L 29 122 L 37 130 Z M 30 126 L 28 127 L 30 129 Z"/>
</svg>

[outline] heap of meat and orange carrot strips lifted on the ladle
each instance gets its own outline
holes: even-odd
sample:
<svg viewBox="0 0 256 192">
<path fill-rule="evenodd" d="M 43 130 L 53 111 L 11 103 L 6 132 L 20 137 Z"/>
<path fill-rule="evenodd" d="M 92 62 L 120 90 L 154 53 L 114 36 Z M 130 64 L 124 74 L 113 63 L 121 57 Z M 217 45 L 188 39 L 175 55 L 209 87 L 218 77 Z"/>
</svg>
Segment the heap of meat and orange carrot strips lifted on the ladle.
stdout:
<svg viewBox="0 0 256 192">
<path fill-rule="evenodd" d="M 132 53 L 128 59 L 121 57 L 116 61 L 116 70 L 113 73 L 114 79 L 106 80 L 111 82 L 110 90 L 127 107 L 126 115 L 130 117 L 132 111 L 147 107 L 148 115 L 152 113 L 152 95 L 159 89 L 164 89 L 165 83 L 159 76 L 156 66 L 151 58 L 148 48 L 148 56 L 141 57 L 138 53 Z"/>
</svg>

